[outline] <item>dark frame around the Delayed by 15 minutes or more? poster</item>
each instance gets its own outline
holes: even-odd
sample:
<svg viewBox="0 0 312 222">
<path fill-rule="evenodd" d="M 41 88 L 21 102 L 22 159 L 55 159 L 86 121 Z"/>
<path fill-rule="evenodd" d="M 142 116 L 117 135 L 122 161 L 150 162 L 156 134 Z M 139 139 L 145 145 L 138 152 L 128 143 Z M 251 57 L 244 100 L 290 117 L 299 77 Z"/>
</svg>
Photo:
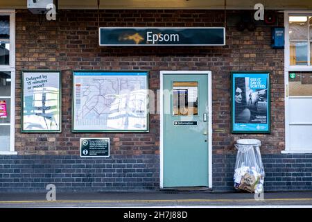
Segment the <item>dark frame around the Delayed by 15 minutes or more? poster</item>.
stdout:
<svg viewBox="0 0 312 222">
<path fill-rule="evenodd" d="M 58 121 L 58 130 L 24 130 L 24 74 L 26 73 L 58 73 L 59 76 L 59 95 L 58 95 L 58 112 L 60 119 Z M 60 70 L 47 70 L 47 69 L 35 69 L 35 70 L 21 70 L 21 133 L 62 133 L 62 71 Z"/>
</svg>

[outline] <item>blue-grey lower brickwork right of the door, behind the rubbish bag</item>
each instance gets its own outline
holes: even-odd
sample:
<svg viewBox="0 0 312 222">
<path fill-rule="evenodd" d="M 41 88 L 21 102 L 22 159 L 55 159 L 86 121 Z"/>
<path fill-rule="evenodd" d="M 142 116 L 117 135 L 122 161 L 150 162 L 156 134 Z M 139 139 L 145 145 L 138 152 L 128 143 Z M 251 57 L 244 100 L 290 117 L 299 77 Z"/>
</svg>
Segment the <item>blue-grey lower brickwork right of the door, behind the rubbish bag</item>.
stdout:
<svg viewBox="0 0 312 222">
<path fill-rule="evenodd" d="M 214 155 L 214 191 L 233 191 L 236 155 Z M 312 189 L 312 154 L 264 154 L 265 191 L 300 191 Z"/>
</svg>

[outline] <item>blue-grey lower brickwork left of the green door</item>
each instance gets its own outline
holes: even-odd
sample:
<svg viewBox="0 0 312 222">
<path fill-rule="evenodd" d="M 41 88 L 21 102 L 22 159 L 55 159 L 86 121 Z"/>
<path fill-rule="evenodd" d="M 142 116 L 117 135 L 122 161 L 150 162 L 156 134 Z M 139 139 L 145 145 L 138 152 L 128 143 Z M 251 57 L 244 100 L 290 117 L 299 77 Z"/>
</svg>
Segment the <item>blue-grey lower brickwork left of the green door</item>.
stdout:
<svg viewBox="0 0 312 222">
<path fill-rule="evenodd" d="M 1 191 L 116 191 L 157 189 L 158 155 L 0 155 Z"/>
</svg>

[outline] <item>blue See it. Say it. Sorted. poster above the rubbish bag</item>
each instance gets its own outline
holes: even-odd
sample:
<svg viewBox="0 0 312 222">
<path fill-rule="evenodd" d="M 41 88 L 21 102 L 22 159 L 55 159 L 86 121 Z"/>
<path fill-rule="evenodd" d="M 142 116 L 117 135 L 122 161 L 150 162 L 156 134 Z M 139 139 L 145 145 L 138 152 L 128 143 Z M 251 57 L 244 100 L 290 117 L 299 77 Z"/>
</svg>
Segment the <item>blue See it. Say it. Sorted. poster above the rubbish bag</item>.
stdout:
<svg viewBox="0 0 312 222">
<path fill-rule="evenodd" d="M 269 73 L 232 73 L 232 133 L 270 133 Z"/>
</svg>

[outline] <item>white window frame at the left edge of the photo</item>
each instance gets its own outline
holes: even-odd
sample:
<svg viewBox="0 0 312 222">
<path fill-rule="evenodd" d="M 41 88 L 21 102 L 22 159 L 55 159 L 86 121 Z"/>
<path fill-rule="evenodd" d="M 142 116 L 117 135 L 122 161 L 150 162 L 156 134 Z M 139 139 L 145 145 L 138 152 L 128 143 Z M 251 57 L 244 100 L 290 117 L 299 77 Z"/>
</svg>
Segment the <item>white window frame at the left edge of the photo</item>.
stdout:
<svg viewBox="0 0 312 222">
<path fill-rule="evenodd" d="M 10 15 L 10 62 L 0 65 L 0 71 L 11 74 L 11 107 L 10 107 L 10 151 L 0 151 L 0 155 L 17 155 L 15 151 L 15 10 L 0 10 L 0 15 Z M 7 123 L 3 123 L 5 125 Z"/>
</svg>

